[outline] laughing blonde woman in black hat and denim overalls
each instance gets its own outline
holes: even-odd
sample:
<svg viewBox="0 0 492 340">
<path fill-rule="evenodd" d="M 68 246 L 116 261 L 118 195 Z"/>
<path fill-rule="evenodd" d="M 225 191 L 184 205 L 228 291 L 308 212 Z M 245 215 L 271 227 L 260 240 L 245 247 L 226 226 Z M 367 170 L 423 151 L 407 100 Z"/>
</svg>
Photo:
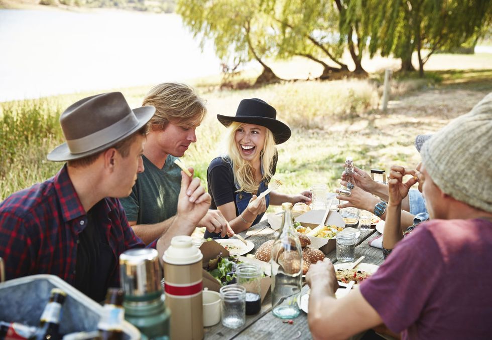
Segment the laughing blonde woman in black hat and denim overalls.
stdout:
<svg viewBox="0 0 492 340">
<path fill-rule="evenodd" d="M 207 170 L 211 209 L 218 209 L 235 233 L 260 222 L 269 205 L 311 202 L 309 191 L 285 195 L 268 189 L 277 168 L 277 144 L 287 141 L 290 128 L 276 119 L 277 111 L 265 101 L 252 98 L 239 103 L 236 115 L 217 119 L 229 129 L 226 155 L 214 158 Z M 205 233 L 205 238 L 219 234 Z"/>
</svg>

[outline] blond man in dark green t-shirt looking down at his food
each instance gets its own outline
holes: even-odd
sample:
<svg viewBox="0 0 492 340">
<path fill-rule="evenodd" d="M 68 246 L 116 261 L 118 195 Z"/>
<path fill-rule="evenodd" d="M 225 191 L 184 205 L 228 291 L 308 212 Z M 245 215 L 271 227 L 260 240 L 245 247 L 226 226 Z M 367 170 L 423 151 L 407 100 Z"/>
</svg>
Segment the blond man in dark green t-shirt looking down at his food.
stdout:
<svg viewBox="0 0 492 340">
<path fill-rule="evenodd" d="M 121 204 L 135 234 L 149 244 L 170 228 L 176 216 L 181 170 L 174 160 L 196 142 L 195 129 L 207 110 L 205 101 L 194 89 L 180 83 L 153 87 L 143 105 L 156 108 L 142 157 L 145 171 L 139 174 L 131 195 L 121 199 Z M 233 234 L 218 210 L 209 210 L 197 226 L 222 236 Z"/>
</svg>

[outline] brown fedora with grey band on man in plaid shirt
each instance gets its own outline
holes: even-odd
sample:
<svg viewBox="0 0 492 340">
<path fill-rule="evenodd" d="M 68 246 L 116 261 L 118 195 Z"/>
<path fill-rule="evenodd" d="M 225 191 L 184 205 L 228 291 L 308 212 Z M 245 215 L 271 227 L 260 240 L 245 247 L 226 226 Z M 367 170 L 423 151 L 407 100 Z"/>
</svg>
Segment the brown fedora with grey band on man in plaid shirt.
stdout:
<svg viewBox="0 0 492 340">
<path fill-rule="evenodd" d="M 48 154 L 48 160 L 66 161 L 111 147 L 143 127 L 154 106 L 131 109 L 121 92 L 97 94 L 70 105 L 60 116 L 66 143 Z"/>
</svg>

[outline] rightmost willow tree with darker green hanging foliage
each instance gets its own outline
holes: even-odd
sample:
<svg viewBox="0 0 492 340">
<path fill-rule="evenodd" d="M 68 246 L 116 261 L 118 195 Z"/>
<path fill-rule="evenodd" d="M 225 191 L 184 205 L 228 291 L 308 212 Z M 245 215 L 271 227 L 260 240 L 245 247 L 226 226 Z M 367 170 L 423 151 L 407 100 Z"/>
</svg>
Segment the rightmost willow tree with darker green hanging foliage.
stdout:
<svg viewBox="0 0 492 340">
<path fill-rule="evenodd" d="M 402 59 L 402 70 L 412 70 L 417 52 L 419 73 L 436 51 L 454 49 L 477 36 L 490 18 L 490 0 L 367 0 L 379 16 L 368 19 L 371 55 L 381 51 Z M 370 13 L 365 13 L 366 18 Z"/>
</svg>

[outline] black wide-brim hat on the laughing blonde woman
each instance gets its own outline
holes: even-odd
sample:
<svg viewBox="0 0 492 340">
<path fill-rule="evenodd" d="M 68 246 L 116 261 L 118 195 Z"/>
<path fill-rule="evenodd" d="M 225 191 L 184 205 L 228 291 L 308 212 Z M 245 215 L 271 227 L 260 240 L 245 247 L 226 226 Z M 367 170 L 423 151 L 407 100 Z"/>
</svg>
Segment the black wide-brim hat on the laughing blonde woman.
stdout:
<svg viewBox="0 0 492 340">
<path fill-rule="evenodd" d="M 291 136 L 289 126 L 276 119 L 277 110 L 258 98 L 243 99 L 237 107 L 236 115 L 224 116 L 217 114 L 217 119 L 224 126 L 232 122 L 261 125 L 272 131 L 276 144 L 282 144 Z"/>
</svg>

